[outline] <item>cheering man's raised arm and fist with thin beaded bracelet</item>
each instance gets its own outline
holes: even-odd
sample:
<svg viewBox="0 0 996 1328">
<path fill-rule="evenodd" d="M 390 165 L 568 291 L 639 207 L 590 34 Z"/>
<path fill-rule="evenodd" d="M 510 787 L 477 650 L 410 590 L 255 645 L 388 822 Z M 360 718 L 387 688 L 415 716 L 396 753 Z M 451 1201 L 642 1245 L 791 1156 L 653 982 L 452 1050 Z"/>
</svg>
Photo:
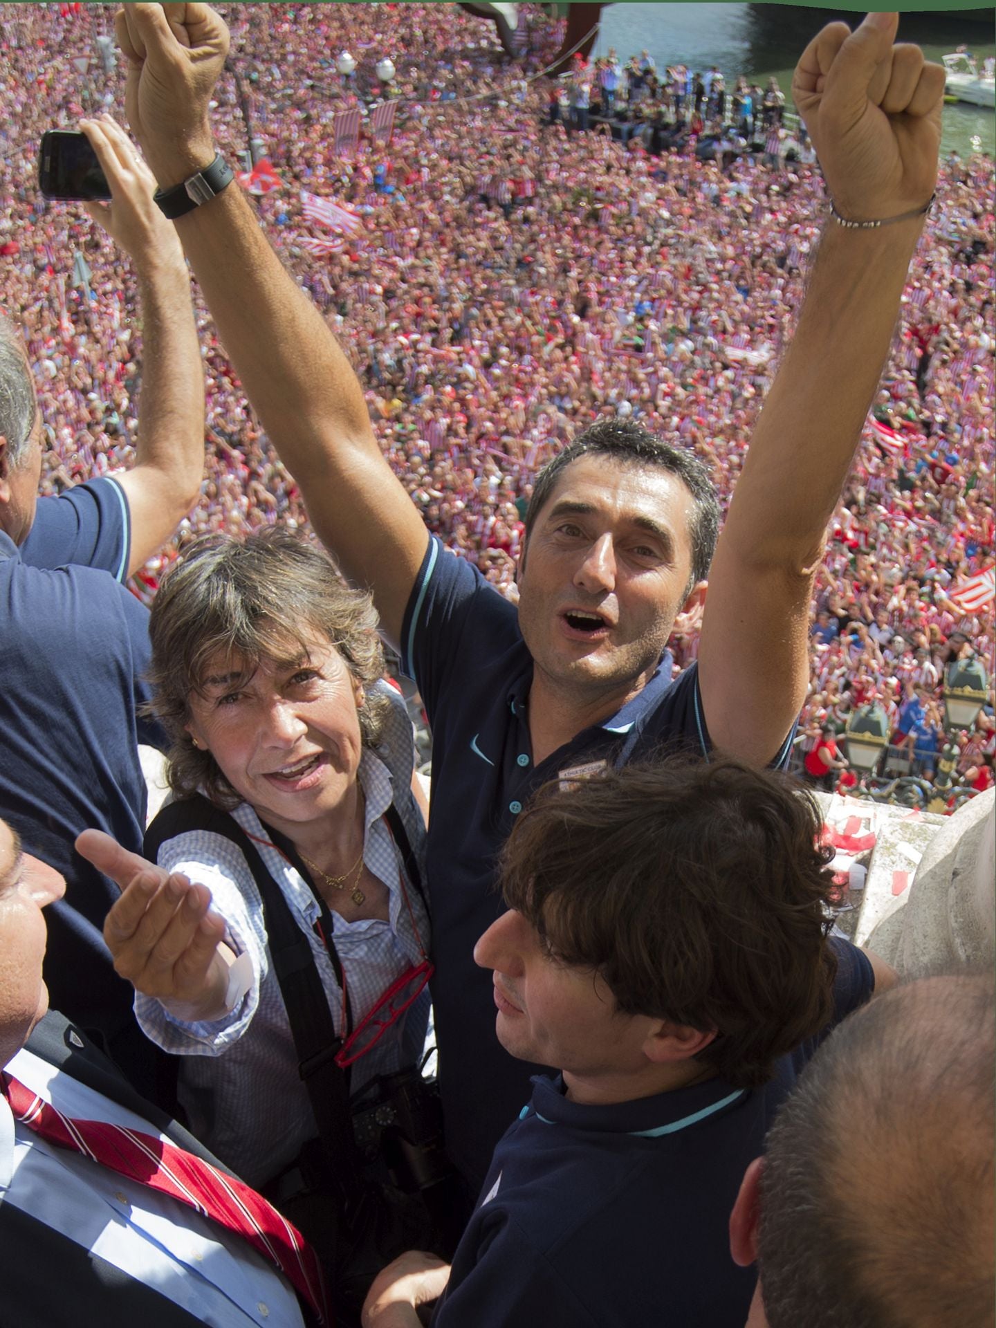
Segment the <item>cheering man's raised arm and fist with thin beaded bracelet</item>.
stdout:
<svg viewBox="0 0 996 1328">
<path fill-rule="evenodd" d="M 898 13 L 821 28 L 791 88 L 829 220 L 709 574 L 699 684 L 713 742 L 764 764 L 806 693 L 810 594 L 938 174 L 944 70 L 895 44 Z M 862 222 L 876 224 L 867 228 Z"/>
</svg>

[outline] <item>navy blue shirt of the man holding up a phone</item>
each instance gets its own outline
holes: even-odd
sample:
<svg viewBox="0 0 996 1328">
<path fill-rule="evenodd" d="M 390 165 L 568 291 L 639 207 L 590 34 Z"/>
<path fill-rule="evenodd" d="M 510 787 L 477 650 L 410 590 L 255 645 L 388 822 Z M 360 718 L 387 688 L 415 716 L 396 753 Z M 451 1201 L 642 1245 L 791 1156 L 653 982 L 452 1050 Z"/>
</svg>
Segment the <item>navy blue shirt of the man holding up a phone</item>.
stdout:
<svg viewBox="0 0 996 1328">
<path fill-rule="evenodd" d="M 149 611 L 116 580 L 129 556 L 127 506 L 113 481 L 40 499 L 24 550 L 0 533 L 0 815 L 66 878 L 46 910 L 52 1007 L 135 1054 L 150 1045 L 101 928 L 117 888 L 73 849 L 90 826 L 142 850 L 138 742 L 165 746 L 138 713 L 150 699 Z M 121 495 L 124 497 L 124 495 Z M 94 566 L 62 566 L 89 556 Z M 134 1036 L 133 1032 L 134 1031 Z"/>
</svg>

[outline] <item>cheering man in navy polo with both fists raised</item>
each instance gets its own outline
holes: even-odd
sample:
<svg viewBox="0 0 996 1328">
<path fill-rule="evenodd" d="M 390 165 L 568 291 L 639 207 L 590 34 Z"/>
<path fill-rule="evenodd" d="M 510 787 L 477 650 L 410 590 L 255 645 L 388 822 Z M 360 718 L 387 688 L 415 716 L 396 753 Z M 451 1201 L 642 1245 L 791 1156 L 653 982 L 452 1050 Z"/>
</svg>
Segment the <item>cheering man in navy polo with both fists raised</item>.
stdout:
<svg viewBox="0 0 996 1328">
<path fill-rule="evenodd" d="M 429 538 L 345 356 L 246 198 L 224 187 L 208 121 L 222 20 L 203 4 L 117 16 L 131 129 L 238 376 L 426 703 L 441 1086 L 448 1147 L 471 1185 L 529 1097 L 530 1066 L 498 1045 L 471 954 L 502 908 L 494 859 L 531 791 L 664 742 L 757 766 L 786 750 L 806 691 L 813 574 L 936 178 L 943 70 L 894 45 L 896 24 L 830 24 L 795 70 L 833 212 L 714 559 L 699 463 L 640 429 L 599 425 L 537 481 L 517 614 Z M 701 645 L 672 683 L 665 647 L 683 612 L 701 612 Z"/>
</svg>

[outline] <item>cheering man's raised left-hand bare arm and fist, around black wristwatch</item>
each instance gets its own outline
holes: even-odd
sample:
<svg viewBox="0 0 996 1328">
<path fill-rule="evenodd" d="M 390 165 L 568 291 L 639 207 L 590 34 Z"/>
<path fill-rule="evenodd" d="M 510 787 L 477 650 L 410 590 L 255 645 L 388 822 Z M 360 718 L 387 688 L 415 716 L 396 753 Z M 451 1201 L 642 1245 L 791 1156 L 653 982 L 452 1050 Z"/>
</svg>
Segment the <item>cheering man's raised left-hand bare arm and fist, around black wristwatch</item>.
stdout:
<svg viewBox="0 0 996 1328">
<path fill-rule="evenodd" d="M 228 31 L 210 5 L 122 5 L 125 105 L 159 187 L 215 155 L 210 98 Z M 428 533 L 377 448 L 363 389 L 317 309 L 297 290 L 230 183 L 177 220 L 224 347 L 319 537 L 373 591 L 381 628 L 400 639 Z"/>
</svg>

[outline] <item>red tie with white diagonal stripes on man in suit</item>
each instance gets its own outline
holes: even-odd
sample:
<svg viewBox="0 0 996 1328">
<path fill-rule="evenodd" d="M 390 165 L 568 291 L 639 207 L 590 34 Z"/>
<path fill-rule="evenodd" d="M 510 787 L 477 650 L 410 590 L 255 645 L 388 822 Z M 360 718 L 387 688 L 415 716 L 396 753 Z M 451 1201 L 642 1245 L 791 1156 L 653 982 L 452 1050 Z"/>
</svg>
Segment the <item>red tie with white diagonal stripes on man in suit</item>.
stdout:
<svg viewBox="0 0 996 1328">
<path fill-rule="evenodd" d="M 62 1116 L 12 1074 L 0 1074 L 0 1086 L 15 1118 L 49 1143 L 73 1149 L 110 1171 L 169 1194 L 248 1240 L 308 1301 L 319 1323 L 331 1323 L 315 1251 L 300 1231 L 250 1186 L 154 1134 Z"/>
</svg>

